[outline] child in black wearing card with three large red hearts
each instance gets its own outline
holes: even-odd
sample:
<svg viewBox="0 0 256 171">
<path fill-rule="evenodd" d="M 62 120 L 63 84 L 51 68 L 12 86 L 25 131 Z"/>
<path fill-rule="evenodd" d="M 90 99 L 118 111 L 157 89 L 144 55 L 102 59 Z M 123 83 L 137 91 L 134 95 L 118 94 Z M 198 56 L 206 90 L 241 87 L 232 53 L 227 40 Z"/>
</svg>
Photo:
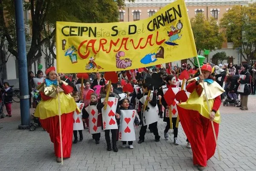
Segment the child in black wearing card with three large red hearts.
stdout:
<svg viewBox="0 0 256 171">
<path fill-rule="evenodd" d="M 110 93 L 109 93 L 109 99 L 110 99 L 110 97 L 114 97 L 114 98 L 117 98 L 117 101 L 116 101 L 116 103 L 115 103 L 115 106 L 116 106 L 116 108 L 115 109 L 113 109 L 113 108 L 111 108 L 111 110 L 110 110 L 110 112 L 112 111 L 112 110 L 116 110 L 116 113 L 113 113 L 113 111 L 112 111 L 112 113 L 113 113 L 113 116 L 115 116 L 114 118 L 111 118 L 111 116 L 112 116 L 112 113 L 105 113 L 104 114 L 104 105 L 106 104 L 107 106 L 108 105 L 111 105 L 111 106 L 113 106 L 113 104 L 111 104 L 111 102 L 112 101 L 106 101 L 104 98 L 106 97 L 106 94 L 107 94 L 107 90 L 108 90 L 108 86 L 111 86 L 111 88 L 110 88 Z M 98 102 L 98 104 L 97 104 L 97 109 L 98 109 L 98 111 L 99 111 L 99 113 L 102 113 L 102 121 L 103 121 L 103 129 L 105 130 L 105 139 L 106 139 L 106 142 L 107 142 L 107 146 L 108 146 L 108 148 L 107 148 L 107 150 L 108 151 L 111 151 L 111 143 L 110 143 L 110 136 L 109 136 L 109 132 L 110 132 L 110 130 L 111 130 L 111 134 L 112 134 L 112 147 L 113 147 L 113 151 L 115 151 L 115 152 L 117 152 L 118 151 L 118 149 L 117 149 L 117 147 L 116 147 L 116 136 L 117 136 L 117 129 L 118 129 L 118 127 L 117 127 L 117 123 L 116 123 L 116 120 L 118 119 L 120 119 L 120 108 L 119 108 L 119 105 L 117 105 L 117 103 L 118 103 L 118 99 L 120 99 L 120 97 L 117 95 L 117 94 L 115 94 L 115 93 L 113 93 L 113 86 L 112 85 L 109 85 L 109 84 L 106 84 L 104 87 L 102 87 L 102 89 L 101 89 L 101 92 L 100 92 L 100 98 L 101 99 L 99 99 L 100 101 Z M 113 99 L 113 98 L 112 98 Z M 108 104 L 108 102 L 110 102 L 110 104 Z M 103 115 L 106 115 L 106 116 L 103 116 Z M 109 116 L 109 117 L 108 117 Z M 110 119 L 110 121 L 109 122 L 105 122 L 105 120 L 107 120 L 107 119 L 104 119 L 104 118 L 111 118 Z M 107 125 L 106 125 L 107 124 Z M 113 125 L 116 125 L 116 129 L 109 129 L 109 128 L 107 128 L 107 127 L 111 127 L 111 126 L 113 126 Z M 111 127 L 112 128 L 112 127 Z"/>
</svg>

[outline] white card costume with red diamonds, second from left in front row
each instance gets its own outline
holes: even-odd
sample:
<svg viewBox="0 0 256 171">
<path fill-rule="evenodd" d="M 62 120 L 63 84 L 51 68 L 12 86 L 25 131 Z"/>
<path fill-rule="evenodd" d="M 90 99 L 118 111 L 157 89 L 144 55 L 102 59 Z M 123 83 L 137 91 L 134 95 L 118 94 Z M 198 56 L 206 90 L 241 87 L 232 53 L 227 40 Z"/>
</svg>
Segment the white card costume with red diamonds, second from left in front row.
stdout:
<svg viewBox="0 0 256 171">
<path fill-rule="evenodd" d="M 89 105 L 85 108 L 85 110 L 89 114 L 89 133 L 90 134 L 100 133 L 102 128 L 101 128 L 101 123 L 98 124 L 99 112 L 96 105 Z"/>
</svg>

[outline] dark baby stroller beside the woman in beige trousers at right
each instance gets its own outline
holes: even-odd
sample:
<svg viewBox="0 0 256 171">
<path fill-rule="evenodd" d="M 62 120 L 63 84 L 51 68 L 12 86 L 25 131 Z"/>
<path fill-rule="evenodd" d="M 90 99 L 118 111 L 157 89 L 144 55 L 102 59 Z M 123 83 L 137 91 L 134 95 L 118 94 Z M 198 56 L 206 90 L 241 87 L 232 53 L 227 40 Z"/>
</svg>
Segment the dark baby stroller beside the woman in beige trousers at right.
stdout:
<svg viewBox="0 0 256 171">
<path fill-rule="evenodd" d="M 230 78 L 230 79 L 229 79 Z M 239 79 L 239 75 L 229 76 L 227 79 L 227 88 L 225 89 L 225 97 L 223 101 L 223 106 L 225 105 L 233 105 L 239 106 L 241 104 L 240 94 L 237 92 L 239 84 L 237 80 Z"/>
</svg>

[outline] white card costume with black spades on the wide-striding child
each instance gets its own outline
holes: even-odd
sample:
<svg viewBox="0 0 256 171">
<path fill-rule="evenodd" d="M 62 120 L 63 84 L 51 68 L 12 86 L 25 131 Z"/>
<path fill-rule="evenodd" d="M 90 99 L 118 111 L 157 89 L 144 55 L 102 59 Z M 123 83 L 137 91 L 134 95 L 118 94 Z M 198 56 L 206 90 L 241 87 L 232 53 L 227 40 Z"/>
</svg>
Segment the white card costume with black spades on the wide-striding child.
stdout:
<svg viewBox="0 0 256 171">
<path fill-rule="evenodd" d="M 141 99 L 140 102 L 142 104 L 145 104 L 147 95 L 144 95 Z M 150 94 L 150 98 L 153 98 L 153 93 Z M 152 106 L 150 103 L 148 103 L 146 110 L 143 111 L 143 125 L 149 125 L 152 124 L 154 122 L 158 121 L 158 107 L 156 106 Z"/>
</svg>

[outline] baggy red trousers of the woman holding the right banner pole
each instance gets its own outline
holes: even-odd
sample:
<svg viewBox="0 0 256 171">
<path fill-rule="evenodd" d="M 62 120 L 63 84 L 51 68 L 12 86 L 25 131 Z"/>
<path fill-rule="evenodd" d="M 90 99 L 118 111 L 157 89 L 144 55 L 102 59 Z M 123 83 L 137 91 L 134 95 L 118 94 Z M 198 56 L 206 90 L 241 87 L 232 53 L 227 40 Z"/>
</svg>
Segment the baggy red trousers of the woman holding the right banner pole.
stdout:
<svg viewBox="0 0 256 171">
<path fill-rule="evenodd" d="M 210 120 L 195 110 L 186 110 L 177 106 L 180 122 L 191 144 L 194 165 L 206 166 L 216 148 Z M 218 137 L 219 124 L 213 122 Z"/>
</svg>

